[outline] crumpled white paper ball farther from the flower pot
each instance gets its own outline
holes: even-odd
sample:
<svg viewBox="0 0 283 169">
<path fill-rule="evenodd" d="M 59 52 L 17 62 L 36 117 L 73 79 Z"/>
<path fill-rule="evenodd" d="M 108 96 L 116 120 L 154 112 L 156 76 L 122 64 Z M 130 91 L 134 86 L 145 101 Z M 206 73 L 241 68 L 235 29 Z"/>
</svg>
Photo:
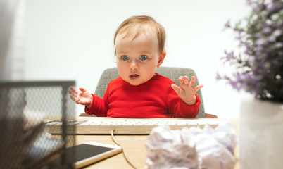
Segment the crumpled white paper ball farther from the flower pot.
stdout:
<svg viewBox="0 0 283 169">
<path fill-rule="evenodd" d="M 146 140 L 148 169 L 199 169 L 193 135 L 188 128 L 170 130 L 168 125 L 153 128 Z"/>
</svg>

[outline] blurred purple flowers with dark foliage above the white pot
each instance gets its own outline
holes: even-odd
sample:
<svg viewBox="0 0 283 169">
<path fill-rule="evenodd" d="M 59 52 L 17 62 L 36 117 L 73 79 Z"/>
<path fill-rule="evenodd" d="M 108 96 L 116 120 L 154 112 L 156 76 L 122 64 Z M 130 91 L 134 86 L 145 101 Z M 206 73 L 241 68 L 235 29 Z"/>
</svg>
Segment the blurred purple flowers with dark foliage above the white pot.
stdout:
<svg viewBox="0 0 283 169">
<path fill-rule="evenodd" d="M 228 20 L 225 29 L 236 32 L 241 52 L 224 51 L 220 59 L 237 68 L 232 78 L 222 77 L 234 89 L 254 94 L 258 99 L 270 99 L 283 102 L 283 1 L 247 0 L 252 12 L 247 18 L 247 25 L 239 23 L 232 26 Z M 255 17 L 257 16 L 257 17 Z"/>
</svg>

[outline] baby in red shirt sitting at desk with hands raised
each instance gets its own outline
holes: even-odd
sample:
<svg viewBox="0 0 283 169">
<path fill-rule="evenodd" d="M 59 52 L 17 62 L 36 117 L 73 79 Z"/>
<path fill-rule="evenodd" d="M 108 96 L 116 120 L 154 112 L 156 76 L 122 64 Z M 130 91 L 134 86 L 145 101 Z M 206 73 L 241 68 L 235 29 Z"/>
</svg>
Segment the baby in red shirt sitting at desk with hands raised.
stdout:
<svg viewBox="0 0 283 169">
<path fill-rule="evenodd" d="M 70 88 L 70 98 L 85 106 L 89 115 L 113 118 L 196 118 L 201 100 L 194 87 L 196 77 L 179 77 L 180 86 L 158 75 L 166 56 L 165 30 L 145 15 L 125 20 L 114 37 L 120 77 L 112 80 L 103 99 Z"/>
</svg>

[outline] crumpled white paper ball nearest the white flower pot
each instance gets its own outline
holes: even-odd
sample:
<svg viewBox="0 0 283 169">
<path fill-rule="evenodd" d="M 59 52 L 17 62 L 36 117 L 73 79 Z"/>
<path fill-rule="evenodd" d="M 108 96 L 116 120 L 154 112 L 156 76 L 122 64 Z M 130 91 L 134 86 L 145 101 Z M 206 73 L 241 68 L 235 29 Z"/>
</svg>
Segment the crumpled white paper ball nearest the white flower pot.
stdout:
<svg viewBox="0 0 283 169">
<path fill-rule="evenodd" d="M 208 125 L 203 130 L 191 127 L 190 131 L 196 140 L 196 151 L 201 159 L 202 168 L 234 168 L 234 148 L 238 139 L 231 122 L 220 123 L 215 129 Z"/>
</svg>

